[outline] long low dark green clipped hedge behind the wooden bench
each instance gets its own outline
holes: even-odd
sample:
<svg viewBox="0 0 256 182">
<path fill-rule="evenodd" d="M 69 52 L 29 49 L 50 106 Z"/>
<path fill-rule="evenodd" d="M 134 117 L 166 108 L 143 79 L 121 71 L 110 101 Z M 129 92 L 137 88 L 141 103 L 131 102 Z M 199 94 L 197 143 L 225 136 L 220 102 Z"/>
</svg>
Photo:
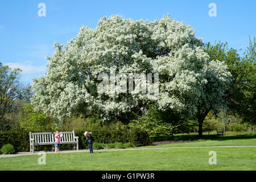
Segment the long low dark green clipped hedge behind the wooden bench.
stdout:
<svg viewBox="0 0 256 182">
<path fill-rule="evenodd" d="M 134 146 L 150 145 L 150 137 L 144 130 L 136 129 L 92 129 L 87 130 L 93 133 L 93 142 L 96 143 L 115 143 L 130 142 Z M 42 131 L 43 132 L 43 131 Z M 75 131 L 76 137 L 79 137 L 79 149 L 89 148 L 88 140 L 84 137 L 85 131 Z M 5 144 L 12 144 L 16 152 L 28 152 L 29 133 L 24 131 L 5 131 L 0 133 L 0 148 Z M 60 150 L 72 150 L 73 144 L 61 144 Z M 35 151 L 51 151 L 51 145 L 35 146 Z"/>
</svg>

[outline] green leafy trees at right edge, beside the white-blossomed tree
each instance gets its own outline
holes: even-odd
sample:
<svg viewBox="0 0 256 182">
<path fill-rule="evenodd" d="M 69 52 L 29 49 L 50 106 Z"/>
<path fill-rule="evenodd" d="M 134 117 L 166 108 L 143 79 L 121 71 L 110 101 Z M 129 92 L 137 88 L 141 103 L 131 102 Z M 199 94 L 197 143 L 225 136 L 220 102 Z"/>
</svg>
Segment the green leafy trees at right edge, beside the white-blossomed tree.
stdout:
<svg viewBox="0 0 256 182">
<path fill-rule="evenodd" d="M 228 70 L 232 73 L 232 82 L 224 100 L 228 103 L 228 113 L 239 114 L 245 122 L 255 123 L 255 38 L 249 39 L 243 57 L 236 49 L 228 48 L 228 43 L 218 42 L 215 45 L 207 43 L 205 51 L 210 59 L 225 61 Z"/>
</svg>

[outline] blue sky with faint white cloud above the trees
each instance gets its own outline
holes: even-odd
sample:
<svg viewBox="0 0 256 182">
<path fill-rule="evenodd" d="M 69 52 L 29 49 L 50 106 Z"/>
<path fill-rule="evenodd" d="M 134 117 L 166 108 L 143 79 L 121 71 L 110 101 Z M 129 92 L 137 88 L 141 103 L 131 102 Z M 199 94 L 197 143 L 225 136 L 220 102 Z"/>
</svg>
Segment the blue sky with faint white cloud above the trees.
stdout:
<svg viewBox="0 0 256 182">
<path fill-rule="evenodd" d="M 46 16 L 39 17 L 39 3 L 46 5 Z M 210 17 L 209 4 L 215 3 L 217 16 Z M 196 30 L 204 42 L 220 40 L 229 47 L 243 50 L 256 36 L 255 0 L 168 0 L 168 1 L 59 1 L 0 0 L 0 62 L 23 70 L 20 81 L 44 75 L 46 55 L 54 51 L 53 43 L 67 44 L 82 25 L 97 26 L 102 16 L 153 21 L 170 14 Z M 242 53 L 242 51 L 240 51 Z"/>
</svg>

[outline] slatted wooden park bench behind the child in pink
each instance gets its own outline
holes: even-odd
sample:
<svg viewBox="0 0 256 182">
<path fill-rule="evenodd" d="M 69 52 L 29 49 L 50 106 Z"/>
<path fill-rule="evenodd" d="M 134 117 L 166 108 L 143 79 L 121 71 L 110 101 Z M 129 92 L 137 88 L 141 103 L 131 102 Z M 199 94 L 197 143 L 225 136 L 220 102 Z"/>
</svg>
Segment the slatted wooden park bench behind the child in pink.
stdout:
<svg viewBox="0 0 256 182">
<path fill-rule="evenodd" d="M 74 144 L 74 150 L 79 150 L 79 137 L 75 137 L 75 131 L 61 132 L 63 138 L 60 138 L 60 144 Z M 35 152 L 35 146 L 55 144 L 55 132 L 31 133 L 30 132 L 30 152 Z M 76 146 L 75 146 L 76 144 Z"/>
</svg>

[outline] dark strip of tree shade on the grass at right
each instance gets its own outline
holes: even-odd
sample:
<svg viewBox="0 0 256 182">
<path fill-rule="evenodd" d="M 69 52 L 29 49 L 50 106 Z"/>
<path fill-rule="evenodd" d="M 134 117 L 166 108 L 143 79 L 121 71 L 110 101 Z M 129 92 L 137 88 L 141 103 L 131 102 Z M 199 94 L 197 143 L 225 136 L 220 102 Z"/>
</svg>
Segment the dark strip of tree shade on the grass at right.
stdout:
<svg viewBox="0 0 256 182">
<path fill-rule="evenodd" d="M 184 140 L 236 140 L 236 139 L 253 139 L 256 138 L 256 133 L 251 134 L 238 134 L 232 136 L 225 136 L 222 137 L 221 135 L 211 134 L 211 135 L 203 135 L 201 138 L 198 135 L 174 135 L 174 136 L 154 136 L 150 137 L 152 142 L 160 142 L 160 141 L 167 141 L 167 140 L 176 140 L 176 141 L 184 141 Z"/>
</svg>

